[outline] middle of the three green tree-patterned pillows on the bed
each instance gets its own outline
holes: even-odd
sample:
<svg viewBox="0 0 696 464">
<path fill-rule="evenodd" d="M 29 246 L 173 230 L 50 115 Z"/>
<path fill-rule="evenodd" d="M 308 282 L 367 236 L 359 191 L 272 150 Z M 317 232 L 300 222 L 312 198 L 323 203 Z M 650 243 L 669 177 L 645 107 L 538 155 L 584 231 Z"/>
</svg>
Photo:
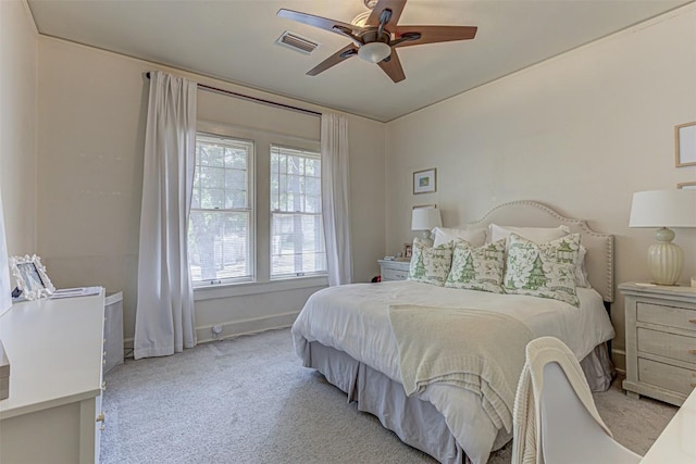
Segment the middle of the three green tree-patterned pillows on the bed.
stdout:
<svg viewBox="0 0 696 464">
<path fill-rule="evenodd" d="M 445 287 L 504 293 L 505 239 L 474 248 L 465 240 L 455 241 L 452 266 Z"/>
</svg>

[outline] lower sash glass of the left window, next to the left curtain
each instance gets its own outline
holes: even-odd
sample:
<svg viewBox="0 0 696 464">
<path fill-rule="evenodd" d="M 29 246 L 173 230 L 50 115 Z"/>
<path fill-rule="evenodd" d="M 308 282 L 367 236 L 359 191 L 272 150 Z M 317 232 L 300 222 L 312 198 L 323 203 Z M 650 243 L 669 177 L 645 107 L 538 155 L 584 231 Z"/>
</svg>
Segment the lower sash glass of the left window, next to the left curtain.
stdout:
<svg viewBox="0 0 696 464">
<path fill-rule="evenodd" d="M 191 279 L 251 276 L 249 213 L 191 211 L 188 249 Z"/>
</svg>

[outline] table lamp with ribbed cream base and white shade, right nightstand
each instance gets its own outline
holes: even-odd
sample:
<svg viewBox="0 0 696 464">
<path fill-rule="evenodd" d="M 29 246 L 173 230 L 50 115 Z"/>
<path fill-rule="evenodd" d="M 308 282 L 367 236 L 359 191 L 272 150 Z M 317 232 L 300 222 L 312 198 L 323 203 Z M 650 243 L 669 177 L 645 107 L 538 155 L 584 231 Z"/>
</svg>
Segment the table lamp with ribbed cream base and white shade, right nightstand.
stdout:
<svg viewBox="0 0 696 464">
<path fill-rule="evenodd" d="M 629 227 L 658 227 L 657 243 L 648 248 L 648 269 L 655 284 L 675 285 L 684 252 L 672 243 L 669 227 L 696 227 L 696 190 L 650 190 L 633 193 Z"/>
</svg>

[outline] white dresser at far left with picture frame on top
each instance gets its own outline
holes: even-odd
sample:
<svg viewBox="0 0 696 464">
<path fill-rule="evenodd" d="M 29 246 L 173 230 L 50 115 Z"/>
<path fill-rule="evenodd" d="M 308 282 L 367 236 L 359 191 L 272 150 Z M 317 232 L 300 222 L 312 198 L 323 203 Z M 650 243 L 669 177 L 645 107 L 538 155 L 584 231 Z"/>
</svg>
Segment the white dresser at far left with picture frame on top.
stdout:
<svg viewBox="0 0 696 464">
<path fill-rule="evenodd" d="M 99 462 L 104 293 L 15 303 L 0 316 L 10 397 L 0 463 Z"/>
</svg>

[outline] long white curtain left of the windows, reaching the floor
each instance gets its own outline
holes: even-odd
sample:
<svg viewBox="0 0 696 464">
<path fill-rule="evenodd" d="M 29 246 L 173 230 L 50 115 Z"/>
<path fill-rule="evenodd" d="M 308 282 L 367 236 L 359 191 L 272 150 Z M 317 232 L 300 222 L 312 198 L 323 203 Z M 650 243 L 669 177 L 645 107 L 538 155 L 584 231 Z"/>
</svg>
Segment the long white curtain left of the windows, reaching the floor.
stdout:
<svg viewBox="0 0 696 464">
<path fill-rule="evenodd" d="M 196 83 L 150 73 L 135 359 L 196 346 L 186 230 L 196 155 Z"/>
</svg>

